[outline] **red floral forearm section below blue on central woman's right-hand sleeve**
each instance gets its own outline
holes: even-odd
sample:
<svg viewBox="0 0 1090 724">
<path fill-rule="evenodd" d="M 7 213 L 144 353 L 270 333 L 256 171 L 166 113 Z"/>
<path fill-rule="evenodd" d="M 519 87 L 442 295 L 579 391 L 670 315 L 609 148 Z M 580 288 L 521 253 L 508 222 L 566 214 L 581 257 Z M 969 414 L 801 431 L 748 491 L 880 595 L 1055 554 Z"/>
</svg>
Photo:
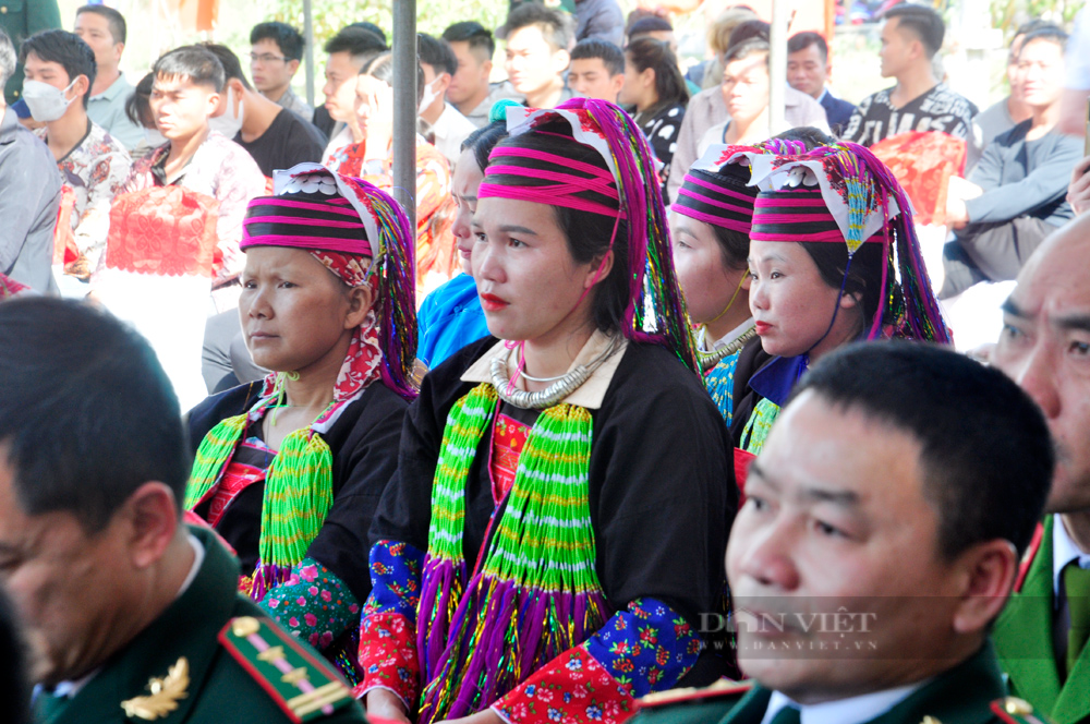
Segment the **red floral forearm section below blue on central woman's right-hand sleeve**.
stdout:
<svg viewBox="0 0 1090 724">
<path fill-rule="evenodd" d="M 620 724 L 635 713 L 629 688 L 581 647 L 560 654 L 492 705 L 510 724 Z"/>
</svg>

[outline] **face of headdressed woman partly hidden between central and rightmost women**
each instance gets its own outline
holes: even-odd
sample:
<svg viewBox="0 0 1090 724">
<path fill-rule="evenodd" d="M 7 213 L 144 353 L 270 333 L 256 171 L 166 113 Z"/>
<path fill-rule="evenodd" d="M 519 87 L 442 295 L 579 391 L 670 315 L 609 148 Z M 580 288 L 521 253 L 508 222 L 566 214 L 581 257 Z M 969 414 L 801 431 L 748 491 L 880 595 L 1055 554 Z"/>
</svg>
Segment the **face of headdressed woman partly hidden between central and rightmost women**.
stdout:
<svg viewBox="0 0 1090 724">
<path fill-rule="evenodd" d="M 727 266 L 710 224 L 671 213 L 670 237 L 674 269 L 685 292 L 689 316 L 697 324 L 706 324 L 723 314 L 739 285 L 749 287 L 744 280 L 749 270 Z M 736 298 L 736 305 L 739 303 L 746 302 Z"/>
</svg>

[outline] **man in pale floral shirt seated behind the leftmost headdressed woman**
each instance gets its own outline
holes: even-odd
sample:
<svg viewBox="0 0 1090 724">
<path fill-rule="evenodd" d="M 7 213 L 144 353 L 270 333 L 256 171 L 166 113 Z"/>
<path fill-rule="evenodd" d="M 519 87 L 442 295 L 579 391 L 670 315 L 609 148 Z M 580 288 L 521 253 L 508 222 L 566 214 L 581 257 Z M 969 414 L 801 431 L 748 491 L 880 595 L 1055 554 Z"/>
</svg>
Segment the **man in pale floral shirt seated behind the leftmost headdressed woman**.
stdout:
<svg viewBox="0 0 1090 724">
<path fill-rule="evenodd" d="M 213 286 L 233 288 L 245 262 L 239 251 L 242 219 L 250 200 L 265 193 L 265 177 L 250 154 L 208 125 L 223 95 L 223 65 L 207 48 L 183 46 L 159 58 L 152 72 L 152 112 L 169 143 L 133 164 L 122 193 L 180 185 L 214 197 L 222 265 Z M 234 294 L 218 295 L 223 309 L 238 301 Z"/>
</svg>

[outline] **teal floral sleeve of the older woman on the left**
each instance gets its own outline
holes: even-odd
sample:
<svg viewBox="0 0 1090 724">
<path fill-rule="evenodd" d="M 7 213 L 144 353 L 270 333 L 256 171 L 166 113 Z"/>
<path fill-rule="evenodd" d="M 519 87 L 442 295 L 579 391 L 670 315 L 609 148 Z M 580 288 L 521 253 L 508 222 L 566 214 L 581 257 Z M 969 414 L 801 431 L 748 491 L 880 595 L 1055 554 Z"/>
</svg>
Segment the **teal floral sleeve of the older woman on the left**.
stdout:
<svg viewBox="0 0 1090 724">
<path fill-rule="evenodd" d="M 360 602 L 332 571 L 303 558 L 291 576 L 258 602 L 270 618 L 318 651 L 324 651 L 360 616 Z"/>
</svg>

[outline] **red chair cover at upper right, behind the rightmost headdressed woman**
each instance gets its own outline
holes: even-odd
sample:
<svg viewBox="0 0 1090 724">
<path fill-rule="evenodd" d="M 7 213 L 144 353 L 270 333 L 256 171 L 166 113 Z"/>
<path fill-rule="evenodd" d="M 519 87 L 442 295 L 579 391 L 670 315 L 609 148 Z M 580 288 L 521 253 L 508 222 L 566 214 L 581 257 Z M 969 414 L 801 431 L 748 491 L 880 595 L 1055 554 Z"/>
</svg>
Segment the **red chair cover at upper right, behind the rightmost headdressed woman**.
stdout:
<svg viewBox="0 0 1090 724">
<path fill-rule="evenodd" d="M 946 222 L 946 190 L 965 170 L 966 144 L 940 131 L 900 133 L 871 146 L 912 200 L 916 222 Z"/>
</svg>

